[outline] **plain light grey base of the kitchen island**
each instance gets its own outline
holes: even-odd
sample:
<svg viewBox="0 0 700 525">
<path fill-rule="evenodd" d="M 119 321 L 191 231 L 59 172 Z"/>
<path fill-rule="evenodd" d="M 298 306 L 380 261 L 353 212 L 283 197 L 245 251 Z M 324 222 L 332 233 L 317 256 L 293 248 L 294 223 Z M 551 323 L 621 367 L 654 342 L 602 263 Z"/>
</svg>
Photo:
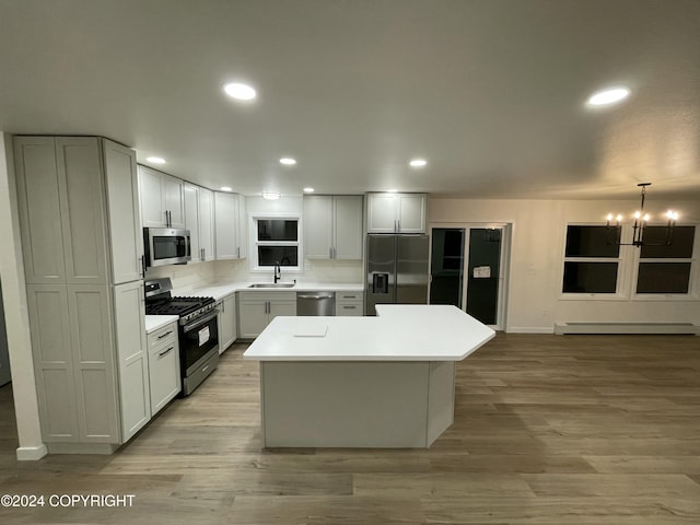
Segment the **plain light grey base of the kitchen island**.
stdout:
<svg viewBox="0 0 700 525">
<path fill-rule="evenodd" d="M 265 447 L 429 447 L 453 423 L 451 361 L 260 362 Z"/>
</svg>

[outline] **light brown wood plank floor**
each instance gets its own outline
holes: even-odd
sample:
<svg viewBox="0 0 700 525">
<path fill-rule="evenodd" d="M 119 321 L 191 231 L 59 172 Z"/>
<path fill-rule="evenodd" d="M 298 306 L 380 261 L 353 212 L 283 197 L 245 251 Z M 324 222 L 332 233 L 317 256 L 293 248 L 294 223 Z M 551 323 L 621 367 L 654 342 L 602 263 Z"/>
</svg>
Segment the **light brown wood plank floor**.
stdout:
<svg viewBox="0 0 700 525">
<path fill-rule="evenodd" d="M 2 509 L 0 523 L 700 523 L 700 338 L 499 335 L 457 365 L 430 450 L 260 451 L 245 345 L 113 456 L 16 462 L 0 389 L 0 494 L 135 494 Z"/>
</svg>

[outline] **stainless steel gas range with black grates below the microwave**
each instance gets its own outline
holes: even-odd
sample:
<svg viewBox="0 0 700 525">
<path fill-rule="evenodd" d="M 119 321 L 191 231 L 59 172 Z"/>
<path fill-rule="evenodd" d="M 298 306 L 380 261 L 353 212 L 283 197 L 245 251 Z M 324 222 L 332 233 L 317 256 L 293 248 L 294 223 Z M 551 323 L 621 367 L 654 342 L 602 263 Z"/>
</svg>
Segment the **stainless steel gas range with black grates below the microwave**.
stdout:
<svg viewBox="0 0 700 525">
<path fill-rule="evenodd" d="M 173 298 L 170 278 L 145 281 L 145 313 L 178 315 L 183 396 L 189 396 L 219 364 L 219 325 L 213 298 Z"/>
</svg>

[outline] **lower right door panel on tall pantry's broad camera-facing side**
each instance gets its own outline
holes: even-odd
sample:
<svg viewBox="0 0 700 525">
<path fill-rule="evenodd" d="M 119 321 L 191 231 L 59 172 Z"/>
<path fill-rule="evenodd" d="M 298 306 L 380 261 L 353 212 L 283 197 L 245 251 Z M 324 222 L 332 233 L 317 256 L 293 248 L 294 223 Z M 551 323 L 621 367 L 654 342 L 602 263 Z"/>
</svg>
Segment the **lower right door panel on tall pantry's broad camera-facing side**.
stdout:
<svg viewBox="0 0 700 525">
<path fill-rule="evenodd" d="M 139 290 L 140 281 L 121 284 L 129 285 Z M 80 442 L 120 443 L 115 335 L 107 287 L 68 285 L 68 305 Z"/>
</svg>

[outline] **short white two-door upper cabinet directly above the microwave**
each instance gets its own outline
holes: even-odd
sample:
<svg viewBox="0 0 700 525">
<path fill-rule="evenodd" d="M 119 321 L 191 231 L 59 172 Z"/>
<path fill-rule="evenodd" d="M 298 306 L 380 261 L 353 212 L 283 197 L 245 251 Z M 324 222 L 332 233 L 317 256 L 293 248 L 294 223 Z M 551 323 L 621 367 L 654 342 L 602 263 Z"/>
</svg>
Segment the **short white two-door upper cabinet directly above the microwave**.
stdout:
<svg viewBox="0 0 700 525">
<path fill-rule="evenodd" d="M 144 228 L 185 228 L 185 183 L 139 165 L 141 218 Z"/>
</svg>

